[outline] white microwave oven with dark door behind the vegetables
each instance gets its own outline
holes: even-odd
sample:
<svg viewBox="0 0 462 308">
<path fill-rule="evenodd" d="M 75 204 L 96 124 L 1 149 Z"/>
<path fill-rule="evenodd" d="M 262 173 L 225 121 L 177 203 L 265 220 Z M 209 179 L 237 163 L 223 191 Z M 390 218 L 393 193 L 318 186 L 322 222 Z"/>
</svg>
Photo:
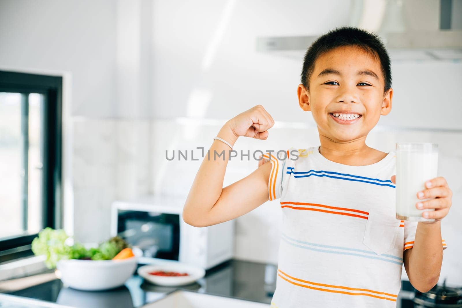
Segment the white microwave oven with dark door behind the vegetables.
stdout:
<svg viewBox="0 0 462 308">
<path fill-rule="evenodd" d="M 234 219 L 208 227 L 183 221 L 186 198 L 151 196 L 115 201 L 111 236 L 121 236 L 142 252 L 139 263 L 184 262 L 205 270 L 233 256 Z"/>
</svg>

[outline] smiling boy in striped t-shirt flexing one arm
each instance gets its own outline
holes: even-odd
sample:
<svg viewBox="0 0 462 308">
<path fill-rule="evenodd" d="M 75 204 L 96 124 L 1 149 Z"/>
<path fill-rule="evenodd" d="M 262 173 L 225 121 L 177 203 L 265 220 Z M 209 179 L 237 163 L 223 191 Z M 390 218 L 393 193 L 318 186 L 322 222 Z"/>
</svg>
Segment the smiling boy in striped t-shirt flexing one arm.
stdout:
<svg viewBox="0 0 462 308">
<path fill-rule="evenodd" d="M 306 52 L 298 103 L 311 111 L 320 146 L 267 153 L 258 169 L 225 188 L 229 147 L 239 136 L 267 139 L 274 125 L 257 105 L 219 131 L 188 194 L 183 219 L 203 227 L 239 217 L 280 198 L 284 213 L 271 307 L 395 307 L 402 264 L 411 284 L 437 284 L 443 249 L 440 220 L 452 192 L 443 177 L 417 193 L 423 216 L 395 218 L 395 152 L 365 144 L 391 110 L 390 60 L 379 38 L 341 27 Z M 213 152 L 225 157 L 213 159 Z M 412 249 L 411 249 L 412 248 Z"/>
</svg>

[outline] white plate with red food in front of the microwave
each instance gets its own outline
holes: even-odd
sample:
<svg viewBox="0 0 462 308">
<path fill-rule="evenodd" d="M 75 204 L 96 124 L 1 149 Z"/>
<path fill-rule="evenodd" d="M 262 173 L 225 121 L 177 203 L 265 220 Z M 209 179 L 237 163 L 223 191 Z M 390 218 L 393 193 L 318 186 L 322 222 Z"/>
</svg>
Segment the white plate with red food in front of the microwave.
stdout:
<svg viewBox="0 0 462 308">
<path fill-rule="evenodd" d="M 149 272 L 165 271 L 165 272 L 181 272 L 188 273 L 188 276 L 157 276 L 151 275 Z M 162 265 L 145 265 L 138 269 L 138 275 L 145 278 L 147 281 L 164 285 L 168 287 L 192 284 L 198 279 L 205 276 L 205 270 L 198 266 L 193 266 L 184 263 L 172 263 Z"/>
</svg>

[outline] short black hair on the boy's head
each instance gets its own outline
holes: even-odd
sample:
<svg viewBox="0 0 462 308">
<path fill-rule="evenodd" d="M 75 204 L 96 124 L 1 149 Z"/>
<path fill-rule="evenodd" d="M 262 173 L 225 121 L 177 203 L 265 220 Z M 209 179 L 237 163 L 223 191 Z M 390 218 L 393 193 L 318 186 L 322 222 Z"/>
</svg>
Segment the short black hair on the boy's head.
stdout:
<svg viewBox="0 0 462 308">
<path fill-rule="evenodd" d="M 390 57 L 379 36 L 357 27 L 344 26 L 319 36 L 306 51 L 301 82 L 307 90 L 310 90 L 310 77 L 313 74 L 316 59 L 322 54 L 342 46 L 356 46 L 371 54 L 375 59 L 378 58 L 382 66 L 383 79 L 385 80 L 383 92 L 386 93 L 391 88 Z"/>
</svg>

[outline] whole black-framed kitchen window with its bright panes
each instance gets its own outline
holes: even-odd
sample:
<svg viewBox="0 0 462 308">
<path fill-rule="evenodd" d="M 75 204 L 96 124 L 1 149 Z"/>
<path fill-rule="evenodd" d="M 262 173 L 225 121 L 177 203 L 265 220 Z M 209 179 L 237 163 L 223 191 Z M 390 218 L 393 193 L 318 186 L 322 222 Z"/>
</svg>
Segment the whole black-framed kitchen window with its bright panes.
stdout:
<svg viewBox="0 0 462 308">
<path fill-rule="evenodd" d="M 62 78 L 0 71 L 0 263 L 61 227 Z"/>
</svg>

